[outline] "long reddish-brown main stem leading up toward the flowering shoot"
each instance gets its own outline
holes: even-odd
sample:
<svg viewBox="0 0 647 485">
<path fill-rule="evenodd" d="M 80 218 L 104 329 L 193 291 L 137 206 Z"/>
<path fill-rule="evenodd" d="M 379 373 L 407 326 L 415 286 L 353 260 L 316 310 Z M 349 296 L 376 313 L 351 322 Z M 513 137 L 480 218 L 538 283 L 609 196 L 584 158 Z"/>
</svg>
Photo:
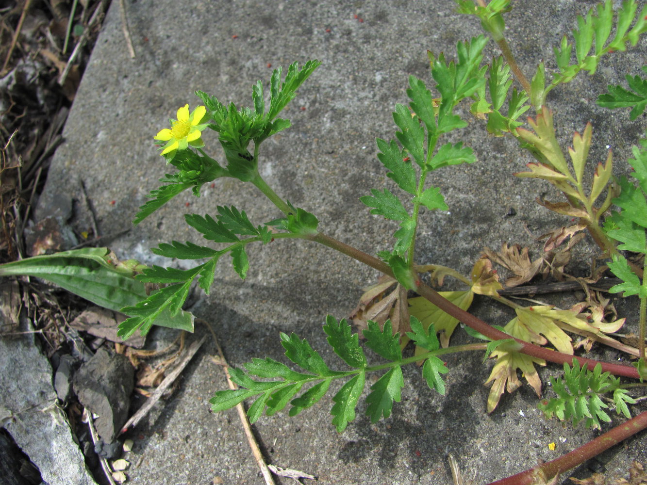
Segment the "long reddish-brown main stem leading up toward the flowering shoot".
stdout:
<svg viewBox="0 0 647 485">
<path fill-rule="evenodd" d="M 303 235 L 302 237 L 303 239 L 309 239 L 310 241 L 319 242 L 324 246 L 333 248 L 334 250 L 337 250 L 347 256 L 350 256 L 353 259 L 356 259 L 357 261 L 360 261 L 360 263 L 367 264 L 367 266 L 371 266 L 371 268 L 375 268 L 376 270 L 386 275 L 395 277 L 393 275 L 393 272 L 391 271 L 391 268 L 389 268 L 388 264 L 384 263 L 383 261 L 380 261 L 376 257 L 373 257 L 365 252 L 362 252 L 356 248 L 353 248 L 353 246 L 349 246 L 344 242 L 337 241 L 333 237 L 325 235 L 321 232 L 318 232 L 314 235 Z M 451 316 L 465 323 L 465 325 L 467 325 L 468 327 L 471 327 L 477 332 L 481 332 L 481 334 L 485 335 L 486 337 L 491 338 L 493 340 L 510 338 L 508 334 L 505 334 L 500 330 L 497 330 L 494 327 L 491 327 L 490 325 L 485 323 L 485 321 L 479 318 L 476 318 L 474 315 L 463 310 L 463 308 L 457 307 L 456 305 L 454 305 L 454 303 L 452 303 L 448 299 L 441 296 L 437 291 L 432 290 L 432 288 L 430 288 L 429 286 L 424 285 L 424 283 L 421 283 L 419 286 L 417 286 L 416 291 L 420 296 L 428 299 L 430 302 L 436 305 L 436 307 L 443 310 L 443 312 L 450 314 Z M 622 364 L 611 363 L 611 362 L 600 362 L 593 359 L 586 359 L 582 357 L 572 356 L 569 354 L 562 354 L 562 352 L 545 349 L 544 347 L 540 347 L 538 345 L 534 345 L 532 343 L 529 343 L 517 338 L 515 338 L 515 340 L 521 343 L 521 345 L 523 346 L 521 347 L 521 350 L 520 350 L 520 352 L 522 352 L 523 354 L 538 357 L 540 359 L 548 360 L 555 363 L 560 363 L 560 364 L 567 363 L 569 365 L 573 363 L 573 359 L 575 358 L 580 363 L 580 366 L 584 367 L 584 365 L 587 365 L 589 366 L 589 369 L 593 369 L 593 367 L 595 367 L 597 363 L 600 363 L 602 365 L 602 372 L 609 371 L 611 372 L 611 374 L 614 374 L 615 376 L 624 376 L 624 377 L 630 377 L 633 379 L 639 378 L 637 369 L 629 365 L 622 365 Z"/>
</svg>

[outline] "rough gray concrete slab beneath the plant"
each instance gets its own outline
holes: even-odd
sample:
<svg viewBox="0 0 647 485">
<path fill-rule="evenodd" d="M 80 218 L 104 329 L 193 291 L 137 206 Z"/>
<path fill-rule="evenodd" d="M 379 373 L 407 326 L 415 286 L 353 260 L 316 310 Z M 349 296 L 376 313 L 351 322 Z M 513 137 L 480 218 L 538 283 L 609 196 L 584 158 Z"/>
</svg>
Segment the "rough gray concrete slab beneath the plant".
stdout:
<svg viewBox="0 0 647 485">
<path fill-rule="evenodd" d="M 317 58 L 322 67 L 287 113 L 292 128 L 263 146 L 261 171 L 281 195 L 315 213 L 324 232 L 370 253 L 389 247 L 395 227 L 369 215 L 358 200 L 388 181 L 376 158 L 375 138 L 393 138 L 391 111 L 395 103 L 406 102 L 408 75 L 429 79 L 426 50 L 453 55 L 457 41 L 480 33 L 475 19 L 455 14 L 447 0 L 138 0 L 126 5 L 137 58 L 128 56 L 119 5 L 113 2 L 65 127 L 66 142 L 50 168 L 40 214 L 56 200 L 72 204 L 73 199 L 71 223 L 87 230 L 89 215 L 79 202 L 82 180 L 100 232 L 128 228 L 165 172 L 152 136 L 179 106 L 198 103 L 193 91 L 237 105 L 250 103 L 250 88 L 259 78 L 269 79 L 269 65 L 287 67 Z M 574 0 L 514 3 L 507 32 L 523 69 L 530 73 L 538 59 L 552 59 L 559 33 L 572 28 L 576 14 L 591 5 Z M 645 47 L 643 41 L 635 50 L 611 56 L 595 76 L 551 94 L 564 143 L 590 120 L 595 134 L 604 135 L 591 150 L 593 158 L 603 160 L 607 144 L 617 160 L 626 158 L 644 120 L 629 122 L 627 113 L 600 109 L 593 100 L 625 72 L 639 72 Z M 218 155 L 214 140 L 205 139 Z M 507 241 L 537 250 L 533 236 L 567 221 L 535 204 L 535 197 L 551 194 L 545 184 L 512 177 L 530 161 L 512 140 L 488 138 L 474 120 L 465 140 L 479 162 L 434 175 L 450 211 L 424 214 L 417 254 L 420 263 L 467 273 L 483 246 L 498 248 Z M 110 246 L 123 258 L 166 263 L 148 248 L 171 239 L 199 241 L 182 213 L 212 211 L 216 204 L 235 204 L 252 221 L 278 217 L 253 188 L 218 180 L 214 188 L 203 189 L 200 199 L 179 196 Z M 510 208 L 516 216 L 505 217 Z M 575 271 L 589 264 L 587 250 L 576 258 Z M 234 365 L 257 356 L 280 359 L 280 331 L 298 332 L 332 360 L 321 330 L 325 314 L 346 316 L 361 288 L 376 277 L 373 270 L 331 250 L 274 242 L 250 250 L 244 283 L 228 263 L 221 264 L 212 295 L 201 297 L 192 310 L 214 324 Z M 487 302 L 476 311 L 492 323 L 504 324 L 510 316 Z M 153 335 L 168 338 L 164 331 Z M 129 460 L 135 465 L 127 471 L 131 483 L 206 484 L 214 477 L 226 484 L 262 482 L 236 413 L 208 413 L 208 398 L 226 387 L 221 369 L 210 361 L 214 352 L 205 345 L 177 392 L 133 433 Z M 527 386 L 487 415 L 488 389 L 482 383 L 490 365 L 480 361 L 481 355 L 448 358 L 444 398 L 426 389 L 417 369 L 407 369 L 403 402 L 375 425 L 363 416 L 362 404 L 355 422 L 336 433 L 327 397 L 297 418 L 264 416 L 256 434 L 278 466 L 317 475 L 322 484 L 376 485 L 448 484 L 446 451 L 457 457 L 466 477 L 488 482 L 537 460 L 556 458 L 593 436 L 582 427 L 543 421 Z M 551 442 L 557 444 L 555 451 L 547 447 Z M 646 453 L 644 437 L 637 437 L 601 459 L 609 469 L 622 469 L 632 459 L 646 460 Z"/>
</svg>

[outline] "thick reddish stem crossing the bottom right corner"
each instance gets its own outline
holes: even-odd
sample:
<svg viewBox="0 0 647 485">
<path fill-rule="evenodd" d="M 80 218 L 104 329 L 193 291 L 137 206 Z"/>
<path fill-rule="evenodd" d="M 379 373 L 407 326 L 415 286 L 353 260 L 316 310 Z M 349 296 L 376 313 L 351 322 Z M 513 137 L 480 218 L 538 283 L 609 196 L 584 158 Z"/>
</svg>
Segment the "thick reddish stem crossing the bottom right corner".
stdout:
<svg viewBox="0 0 647 485">
<path fill-rule="evenodd" d="M 620 426 L 616 426 L 604 433 L 604 435 L 600 435 L 584 446 L 580 446 L 556 460 L 527 469 L 526 471 L 512 475 L 512 477 L 492 482 L 489 485 L 532 485 L 536 483 L 548 483 L 556 475 L 584 463 L 589 458 L 599 455 L 602 451 L 609 449 L 611 446 L 618 444 L 631 435 L 635 435 L 635 433 L 642 431 L 646 427 L 647 411 L 644 411 L 644 413 L 628 420 L 624 424 L 620 424 Z"/>
</svg>

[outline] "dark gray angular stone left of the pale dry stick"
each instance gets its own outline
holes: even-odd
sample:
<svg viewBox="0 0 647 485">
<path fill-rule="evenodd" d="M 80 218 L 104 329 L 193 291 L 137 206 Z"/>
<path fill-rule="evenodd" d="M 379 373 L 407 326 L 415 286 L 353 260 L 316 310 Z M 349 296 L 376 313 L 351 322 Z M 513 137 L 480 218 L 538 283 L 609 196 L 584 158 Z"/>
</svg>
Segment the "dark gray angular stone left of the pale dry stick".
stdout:
<svg viewBox="0 0 647 485">
<path fill-rule="evenodd" d="M 128 419 L 135 369 L 126 356 L 97 350 L 74 375 L 74 392 L 89 411 L 99 417 L 96 431 L 113 442 Z"/>
</svg>

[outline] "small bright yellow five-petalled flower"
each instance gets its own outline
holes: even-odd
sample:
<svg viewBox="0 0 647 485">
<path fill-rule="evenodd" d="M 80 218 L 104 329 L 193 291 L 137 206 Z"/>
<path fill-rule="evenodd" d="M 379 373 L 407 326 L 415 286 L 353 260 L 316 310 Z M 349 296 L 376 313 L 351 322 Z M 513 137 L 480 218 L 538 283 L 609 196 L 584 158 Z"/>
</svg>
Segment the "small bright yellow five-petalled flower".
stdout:
<svg viewBox="0 0 647 485">
<path fill-rule="evenodd" d="M 177 150 L 186 150 L 188 146 L 200 148 L 204 146 L 200 138 L 208 124 L 201 124 L 206 115 L 206 108 L 198 106 L 189 114 L 189 105 L 185 104 L 177 110 L 177 120 L 169 120 L 171 129 L 164 128 L 157 135 L 153 136 L 155 140 L 166 142 L 162 147 L 160 155 L 171 154 L 171 158 Z"/>
</svg>

